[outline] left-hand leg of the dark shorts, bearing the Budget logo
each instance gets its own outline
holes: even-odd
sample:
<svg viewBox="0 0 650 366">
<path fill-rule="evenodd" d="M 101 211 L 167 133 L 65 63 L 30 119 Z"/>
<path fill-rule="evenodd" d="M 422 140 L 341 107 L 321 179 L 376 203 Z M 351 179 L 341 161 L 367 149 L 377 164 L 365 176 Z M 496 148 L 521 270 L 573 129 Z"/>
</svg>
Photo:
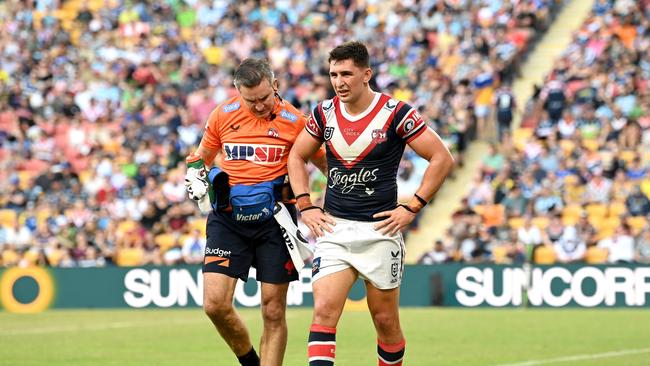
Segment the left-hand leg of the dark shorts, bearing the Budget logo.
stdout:
<svg viewBox="0 0 650 366">
<path fill-rule="evenodd" d="M 206 227 L 203 273 L 221 273 L 246 281 L 255 256 L 249 231 L 250 229 L 231 222 L 222 214 L 210 213 Z"/>
</svg>

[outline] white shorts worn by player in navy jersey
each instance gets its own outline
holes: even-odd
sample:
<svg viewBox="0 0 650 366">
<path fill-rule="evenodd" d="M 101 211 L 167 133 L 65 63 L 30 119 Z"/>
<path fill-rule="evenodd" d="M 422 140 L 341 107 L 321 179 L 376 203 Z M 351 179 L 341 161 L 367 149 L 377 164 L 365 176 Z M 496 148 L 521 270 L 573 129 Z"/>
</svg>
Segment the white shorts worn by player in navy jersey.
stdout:
<svg viewBox="0 0 650 366">
<path fill-rule="evenodd" d="M 316 240 L 312 281 L 354 268 L 378 289 L 399 287 L 406 254 L 402 234 L 383 235 L 373 228 L 376 222 L 334 220 L 334 232 Z"/>
</svg>

